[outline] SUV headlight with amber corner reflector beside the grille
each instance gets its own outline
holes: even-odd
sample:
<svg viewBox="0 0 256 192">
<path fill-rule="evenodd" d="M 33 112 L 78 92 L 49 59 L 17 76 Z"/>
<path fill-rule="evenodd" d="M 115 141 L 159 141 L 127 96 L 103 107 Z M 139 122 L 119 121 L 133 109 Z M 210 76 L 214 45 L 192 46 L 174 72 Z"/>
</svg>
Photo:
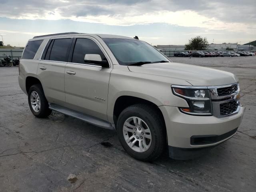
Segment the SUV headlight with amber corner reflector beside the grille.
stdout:
<svg viewBox="0 0 256 192">
<path fill-rule="evenodd" d="M 212 115 L 210 92 L 206 87 L 172 85 L 174 95 L 184 98 L 189 108 L 179 108 L 181 112 L 190 115 Z"/>
</svg>

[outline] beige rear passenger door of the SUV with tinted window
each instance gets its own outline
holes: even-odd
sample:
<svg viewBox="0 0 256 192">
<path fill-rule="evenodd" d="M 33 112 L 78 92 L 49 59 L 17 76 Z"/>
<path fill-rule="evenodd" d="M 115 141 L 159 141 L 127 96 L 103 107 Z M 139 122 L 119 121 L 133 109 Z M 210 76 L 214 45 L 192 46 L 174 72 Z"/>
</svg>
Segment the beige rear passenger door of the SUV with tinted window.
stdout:
<svg viewBox="0 0 256 192">
<path fill-rule="evenodd" d="M 64 105 L 64 72 L 73 38 L 50 39 L 38 65 L 38 78 L 48 102 Z"/>
</svg>

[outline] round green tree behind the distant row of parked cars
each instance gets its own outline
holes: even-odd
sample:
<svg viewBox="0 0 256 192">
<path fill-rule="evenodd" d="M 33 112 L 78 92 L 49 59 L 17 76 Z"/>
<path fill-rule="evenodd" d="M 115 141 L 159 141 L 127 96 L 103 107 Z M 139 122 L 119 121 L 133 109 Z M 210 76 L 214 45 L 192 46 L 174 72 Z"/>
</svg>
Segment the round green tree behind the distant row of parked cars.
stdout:
<svg viewBox="0 0 256 192">
<path fill-rule="evenodd" d="M 206 50 L 209 45 L 206 37 L 196 36 L 188 40 L 188 44 L 185 45 L 185 50 Z"/>
</svg>

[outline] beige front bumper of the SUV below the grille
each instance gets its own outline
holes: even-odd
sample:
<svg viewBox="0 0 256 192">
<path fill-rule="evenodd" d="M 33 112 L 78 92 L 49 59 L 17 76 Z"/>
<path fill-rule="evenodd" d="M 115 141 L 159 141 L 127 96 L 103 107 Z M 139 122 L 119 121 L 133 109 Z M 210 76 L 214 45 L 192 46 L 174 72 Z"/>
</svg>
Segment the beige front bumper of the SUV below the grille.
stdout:
<svg viewBox="0 0 256 192">
<path fill-rule="evenodd" d="M 162 111 L 166 123 L 169 148 L 178 148 L 182 149 L 182 151 L 193 151 L 196 148 L 203 150 L 206 147 L 216 146 L 228 140 L 234 136 L 236 131 L 231 135 L 227 135 L 226 133 L 238 128 L 244 114 L 244 107 L 242 106 L 237 114 L 223 118 L 217 118 L 215 116 L 192 116 L 180 112 L 178 107 L 173 106 L 159 106 L 159 108 Z M 221 135 L 224 136 L 220 137 Z M 211 142 L 202 142 L 200 144 L 200 142 L 192 142 L 193 136 L 202 136 L 205 138 L 218 136 L 219 139 L 210 139 Z M 175 151 L 171 150 L 170 152 L 174 153 Z M 175 156 L 170 155 L 170 157 L 174 158 Z"/>
</svg>

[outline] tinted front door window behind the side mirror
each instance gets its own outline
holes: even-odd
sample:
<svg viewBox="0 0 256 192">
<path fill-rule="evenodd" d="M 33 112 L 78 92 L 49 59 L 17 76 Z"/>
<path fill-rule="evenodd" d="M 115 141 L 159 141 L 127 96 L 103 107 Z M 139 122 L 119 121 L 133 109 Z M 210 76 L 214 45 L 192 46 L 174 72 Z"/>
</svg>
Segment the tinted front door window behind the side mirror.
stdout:
<svg viewBox="0 0 256 192">
<path fill-rule="evenodd" d="M 76 44 L 73 52 L 72 62 L 73 63 L 85 63 L 85 54 L 98 54 L 102 60 L 106 60 L 103 52 L 100 50 L 99 46 L 90 39 L 77 38 Z"/>
</svg>

